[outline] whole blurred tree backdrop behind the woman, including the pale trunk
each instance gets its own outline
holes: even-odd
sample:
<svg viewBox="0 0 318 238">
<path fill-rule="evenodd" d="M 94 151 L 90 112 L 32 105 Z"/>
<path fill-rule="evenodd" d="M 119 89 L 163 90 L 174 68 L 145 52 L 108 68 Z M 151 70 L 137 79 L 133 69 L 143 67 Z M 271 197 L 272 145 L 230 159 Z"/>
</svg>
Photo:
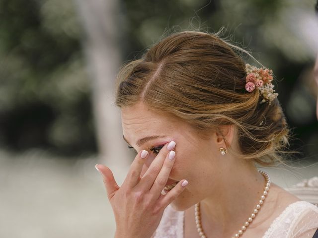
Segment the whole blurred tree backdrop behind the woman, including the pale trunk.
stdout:
<svg viewBox="0 0 318 238">
<path fill-rule="evenodd" d="M 293 149 L 303 145 L 306 155 L 317 155 L 318 122 L 311 107 L 315 98 L 301 89 L 304 84 L 299 81 L 310 79 L 307 72 L 317 53 L 315 3 L 30 0 L 26 4 L 2 0 L 0 143 L 20 149 L 46 146 L 63 152 L 96 151 L 92 101 L 99 147 L 106 150 L 113 134 L 108 134 L 104 124 L 115 128 L 119 123 L 106 115 L 113 110 L 109 109 L 113 99 L 106 95 L 113 93 L 120 61 L 140 57 L 162 35 L 188 29 L 215 32 L 225 26 L 228 40 L 242 42 L 274 70 L 279 100 L 300 139 Z M 81 43 L 92 82 L 85 71 Z"/>
</svg>

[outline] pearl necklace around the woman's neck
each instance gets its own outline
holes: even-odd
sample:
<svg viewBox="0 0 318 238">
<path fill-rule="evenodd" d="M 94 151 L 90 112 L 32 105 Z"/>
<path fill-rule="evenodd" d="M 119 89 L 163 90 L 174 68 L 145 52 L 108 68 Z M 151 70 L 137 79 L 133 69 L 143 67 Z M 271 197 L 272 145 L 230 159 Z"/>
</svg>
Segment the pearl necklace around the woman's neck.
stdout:
<svg viewBox="0 0 318 238">
<path fill-rule="evenodd" d="M 265 196 L 268 193 L 269 187 L 270 187 L 270 177 L 269 175 L 264 172 L 264 171 L 258 171 L 259 173 L 262 174 L 262 176 L 265 177 L 266 179 L 266 185 L 263 191 L 263 195 L 260 197 L 260 200 L 258 202 L 258 204 L 256 205 L 255 209 L 253 210 L 253 213 L 250 215 L 249 218 L 247 218 L 247 221 L 244 223 L 244 225 L 241 227 L 241 229 L 239 230 L 239 232 L 237 234 L 234 235 L 234 237 L 232 238 L 239 238 L 239 236 L 241 236 L 243 234 L 243 232 L 246 230 L 246 228 L 248 227 L 248 225 L 253 221 L 253 219 L 255 218 L 258 210 L 260 209 L 261 205 L 264 203 L 265 200 Z M 206 238 L 204 232 L 203 232 L 203 228 L 201 225 L 201 215 L 200 215 L 200 203 L 195 204 L 194 206 L 194 215 L 195 215 L 195 223 L 197 225 L 197 229 L 198 229 L 198 233 L 200 238 Z"/>
</svg>

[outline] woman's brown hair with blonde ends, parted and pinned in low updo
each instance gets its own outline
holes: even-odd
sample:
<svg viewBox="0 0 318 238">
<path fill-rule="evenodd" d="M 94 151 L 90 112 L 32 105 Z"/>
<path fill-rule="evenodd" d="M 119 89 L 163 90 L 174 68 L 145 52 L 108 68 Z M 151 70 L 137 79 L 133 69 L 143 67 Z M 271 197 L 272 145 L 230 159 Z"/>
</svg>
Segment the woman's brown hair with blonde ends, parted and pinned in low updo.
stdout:
<svg viewBox="0 0 318 238">
<path fill-rule="evenodd" d="M 246 92 L 245 62 L 238 50 L 246 53 L 218 34 L 169 35 L 121 68 L 116 105 L 143 102 L 202 134 L 236 125 L 239 151 L 226 141 L 232 153 L 261 166 L 282 162 L 289 136 L 286 118 L 277 98 L 260 103 L 259 90 Z"/>
</svg>

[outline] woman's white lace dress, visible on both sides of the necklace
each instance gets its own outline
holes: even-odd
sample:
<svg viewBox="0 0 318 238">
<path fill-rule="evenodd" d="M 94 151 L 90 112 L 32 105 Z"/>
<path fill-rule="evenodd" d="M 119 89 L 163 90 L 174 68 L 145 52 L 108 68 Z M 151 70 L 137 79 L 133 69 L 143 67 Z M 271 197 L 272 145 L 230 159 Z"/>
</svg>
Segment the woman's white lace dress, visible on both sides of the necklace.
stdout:
<svg viewBox="0 0 318 238">
<path fill-rule="evenodd" d="M 153 238 L 184 238 L 184 211 L 175 211 L 170 205 L 164 210 Z M 297 201 L 272 222 L 262 238 L 312 238 L 318 229 L 318 207 Z"/>
</svg>

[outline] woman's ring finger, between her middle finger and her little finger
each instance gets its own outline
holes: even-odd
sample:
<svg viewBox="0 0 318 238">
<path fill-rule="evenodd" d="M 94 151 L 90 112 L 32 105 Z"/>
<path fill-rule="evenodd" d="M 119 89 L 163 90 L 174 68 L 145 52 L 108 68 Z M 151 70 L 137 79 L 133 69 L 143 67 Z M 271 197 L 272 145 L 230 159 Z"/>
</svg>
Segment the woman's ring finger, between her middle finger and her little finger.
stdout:
<svg viewBox="0 0 318 238">
<path fill-rule="evenodd" d="M 167 154 L 163 166 L 159 172 L 159 175 L 157 176 L 154 185 L 150 189 L 150 191 L 153 192 L 153 194 L 158 194 L 158 196 L 156 196 L 156 200 L 160 196 L 161 191 L 168 180 L 168 177 L 174 164 L 174 158 L 175 152 L 172 150 Z"/>
</svg>

